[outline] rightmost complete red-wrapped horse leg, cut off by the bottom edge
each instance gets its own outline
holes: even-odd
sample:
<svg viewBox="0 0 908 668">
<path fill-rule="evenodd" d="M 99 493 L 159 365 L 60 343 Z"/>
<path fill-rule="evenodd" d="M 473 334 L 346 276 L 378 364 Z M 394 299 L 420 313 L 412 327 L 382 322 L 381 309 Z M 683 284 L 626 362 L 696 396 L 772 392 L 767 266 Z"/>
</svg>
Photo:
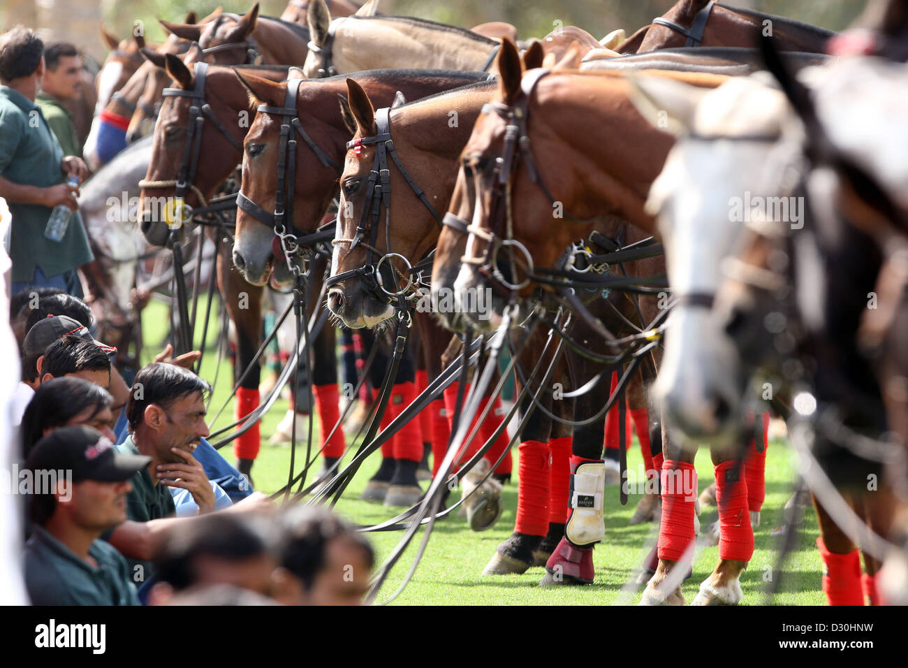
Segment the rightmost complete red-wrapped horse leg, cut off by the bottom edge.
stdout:
<svg viewBox="0 0 908 668">
<path fill-rule="evenodd" d="M 816 546 L 823 559 L 823 592 L 828 605 L 864 605 L 861 591 L 861 557 L 857 546 L 839 528 L 816 497 L 811 494 L 816 509 L 820 535 Z M 852 502 L 849 502 L 852 503 Z M 852 503 L 854 507 L 854 503 Z"/>
</svg>

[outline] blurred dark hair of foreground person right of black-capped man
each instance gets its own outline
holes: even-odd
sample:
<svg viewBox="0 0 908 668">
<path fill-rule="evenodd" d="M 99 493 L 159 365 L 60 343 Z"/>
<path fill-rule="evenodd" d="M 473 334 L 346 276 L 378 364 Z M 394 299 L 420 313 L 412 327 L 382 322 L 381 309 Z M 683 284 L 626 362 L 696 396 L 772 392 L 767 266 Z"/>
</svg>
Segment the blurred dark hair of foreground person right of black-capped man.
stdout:
<svg viewBox="0 0 908 668">
<path fill-rule="evenodd" d="M 262 518 L 212 513 L 193 520 L 191 526 L 173 528 L 155 573 L 158 582 L 179 592 L 199 581 L 199 557 L 242 562 L 271 552 L 272 545 L 271 531 Z"/>
</svg>

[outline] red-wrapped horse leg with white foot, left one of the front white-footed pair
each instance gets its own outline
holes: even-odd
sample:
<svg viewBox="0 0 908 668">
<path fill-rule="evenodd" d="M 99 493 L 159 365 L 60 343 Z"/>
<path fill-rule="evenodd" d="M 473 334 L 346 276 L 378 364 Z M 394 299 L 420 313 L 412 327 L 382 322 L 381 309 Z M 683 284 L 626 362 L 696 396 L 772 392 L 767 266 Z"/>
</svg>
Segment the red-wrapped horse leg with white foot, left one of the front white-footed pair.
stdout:
<svg viewBox="0 0 908 668">
<path fill-rule="evenodd" d="M 663 421 L 665 460 L 660 472 L 662 517 L 656 547 L 656 572 L 646 583 L 640 605 L 684 605 L 681 583 L 690 571 L 696 535 L 696 450 L 667 438 Z M 683 560 L 683 561 L 682 561 Z"/>
</svg>

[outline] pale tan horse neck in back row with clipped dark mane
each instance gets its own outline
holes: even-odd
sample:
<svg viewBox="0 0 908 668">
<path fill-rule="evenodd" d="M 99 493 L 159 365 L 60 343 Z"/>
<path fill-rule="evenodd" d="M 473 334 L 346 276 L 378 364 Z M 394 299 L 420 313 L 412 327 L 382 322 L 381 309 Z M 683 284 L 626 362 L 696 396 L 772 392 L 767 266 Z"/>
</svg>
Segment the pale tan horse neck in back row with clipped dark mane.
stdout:
<svg viewBox="0 0 908 668">
<path fill-rule="evenodd" d="M 486 37 L 448 26 L 371 17 L 343 20 L 332 57 L 339 72 L 401 66 L 476 71 L 494 46 Z"/>
</svg>

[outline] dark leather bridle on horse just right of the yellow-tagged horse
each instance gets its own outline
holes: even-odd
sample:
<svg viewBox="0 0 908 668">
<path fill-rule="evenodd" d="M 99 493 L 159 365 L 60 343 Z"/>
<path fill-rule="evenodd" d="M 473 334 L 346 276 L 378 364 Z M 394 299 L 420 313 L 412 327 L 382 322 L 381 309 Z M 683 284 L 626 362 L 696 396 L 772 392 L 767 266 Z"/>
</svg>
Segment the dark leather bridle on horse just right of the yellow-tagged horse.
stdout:
<svg viewBox="0 0 908 668">
<path fill-rule="evenodd" d="M 302 128 L 300 115 L 296 106 L 297 93 L 302 79 L 290 79 L 287 82 L 287 93 L 284 96 L 283 106 L 259 105 L 260 114 L 280 115 L 281 139 L 278 145 L 278 170 L 277 187 L 274 194 L 274 213 L 270 214 L 262 206 L 255 204 L 242 191 L 236 195 L 236 205 L 247 214 L 262 224 L 271 227 L 274 234 L 281 241 L 281 251 L 287 261 L 288 268 L 293 274 L 299 274 L 301 269 L 293 263 L 291 258 L 306 250 L 311 250 L 315 244 L 328 241 L 334 236 L 333 230 L 321 230 L 306 234 L 293 224 L 293 188 L 296 184 L 296 135 L 308 145 L 318 157 L 319 162 L 326 167 L 331 167 L 341 173 L 338 165 L 321 147 L 315 143 L 311 136 Z M 294 130 L 296 134 L 294 134 Z"/>
</svg>

